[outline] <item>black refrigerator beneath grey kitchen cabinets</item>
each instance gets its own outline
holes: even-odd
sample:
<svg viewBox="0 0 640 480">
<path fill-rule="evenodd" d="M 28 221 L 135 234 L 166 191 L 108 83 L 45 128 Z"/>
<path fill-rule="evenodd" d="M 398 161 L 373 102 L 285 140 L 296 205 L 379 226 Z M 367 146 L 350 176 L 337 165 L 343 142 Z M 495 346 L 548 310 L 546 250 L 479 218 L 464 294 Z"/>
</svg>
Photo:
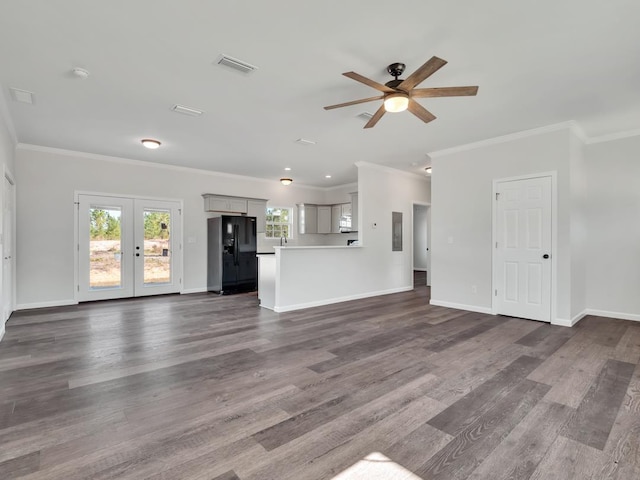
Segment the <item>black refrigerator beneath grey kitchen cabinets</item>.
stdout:
<svg viewBox="0 0 640 480">
<path fill-rule="evenodd" d="M 221 294 L 257 290 L 256 218 L 209 218 L 207 230 L 207 290 Z"/>
</svg>

